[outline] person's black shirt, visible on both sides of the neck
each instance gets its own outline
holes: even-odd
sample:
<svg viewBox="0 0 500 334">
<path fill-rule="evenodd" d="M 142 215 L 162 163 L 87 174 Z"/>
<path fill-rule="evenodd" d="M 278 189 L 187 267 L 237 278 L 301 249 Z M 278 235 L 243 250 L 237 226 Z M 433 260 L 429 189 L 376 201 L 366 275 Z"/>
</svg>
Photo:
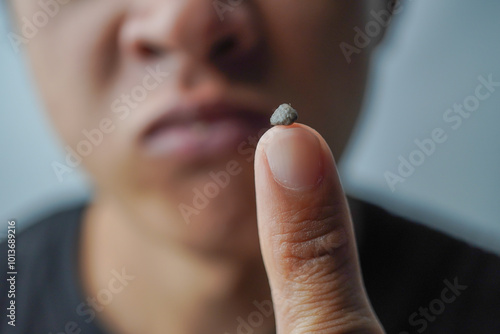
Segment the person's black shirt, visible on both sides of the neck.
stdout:
<svg viewBox="0 0 500 334">
<path fill-rule="evenodd" d="M 16 236 L 16 326 L 6 316 L 4 269 L 0 333 L 111 334 L 89 316 L 77 274 L 84 210 L 60 211 Z M 387 333 L 500 333 L 500 258 L 366 203 L 360 214 L 363 278 Z M 7 249 L 0 245 L 2 268 Z"/>
</svg>

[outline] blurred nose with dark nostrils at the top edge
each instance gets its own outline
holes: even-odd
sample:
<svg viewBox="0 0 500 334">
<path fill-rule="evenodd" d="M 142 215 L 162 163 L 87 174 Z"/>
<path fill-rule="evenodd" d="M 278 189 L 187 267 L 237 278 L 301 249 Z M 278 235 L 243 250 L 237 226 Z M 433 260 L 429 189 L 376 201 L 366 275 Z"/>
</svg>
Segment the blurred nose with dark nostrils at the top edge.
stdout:
<svg viewBox="0 0 500 334">
<path fill-rule="evenodd" d="M 227 63 L 259 45 L 250 1 L 135 1 L 119 35 L 122 52 L 138 60 L 182 55 Z"/>
</svg>

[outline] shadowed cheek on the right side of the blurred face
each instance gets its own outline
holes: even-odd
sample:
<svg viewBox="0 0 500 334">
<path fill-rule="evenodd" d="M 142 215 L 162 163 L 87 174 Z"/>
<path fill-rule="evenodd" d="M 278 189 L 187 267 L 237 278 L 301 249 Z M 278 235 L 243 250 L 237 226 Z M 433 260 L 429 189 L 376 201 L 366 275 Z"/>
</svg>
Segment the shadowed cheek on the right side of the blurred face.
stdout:
<svg viewBox="0 0 500 334">
<path fill-rule="evenodd" d="M 292 96 L 319 98 L 322 89 L 343 79 L 347 63 L 339 45 L 362 23 L 364 1 L 275 0 L 260 6 L 274 65 Z"/>
</svg>

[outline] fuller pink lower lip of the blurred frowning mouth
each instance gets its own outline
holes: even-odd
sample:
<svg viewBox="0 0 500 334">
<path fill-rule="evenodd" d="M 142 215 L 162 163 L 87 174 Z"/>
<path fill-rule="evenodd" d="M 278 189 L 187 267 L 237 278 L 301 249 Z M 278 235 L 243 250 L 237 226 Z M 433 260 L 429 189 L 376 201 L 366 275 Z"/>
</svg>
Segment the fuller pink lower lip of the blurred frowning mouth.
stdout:
<svg viewBox="0 0 500 334">
<path fill-rule="evenodd" d="M 234 154 L 240 145 L 250 145 L 268 127 L 262 120 L 242 117 L 172 125 L 145 140 L 146 153 L 187 161 Z"/>
</svg>

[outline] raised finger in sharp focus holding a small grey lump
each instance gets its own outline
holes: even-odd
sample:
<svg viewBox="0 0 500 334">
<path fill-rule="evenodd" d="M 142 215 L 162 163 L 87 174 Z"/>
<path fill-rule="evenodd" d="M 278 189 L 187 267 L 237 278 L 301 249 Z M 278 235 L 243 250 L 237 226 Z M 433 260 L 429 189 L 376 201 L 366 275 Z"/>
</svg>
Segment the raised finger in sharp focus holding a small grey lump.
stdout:
<svg viewBox="0 0 500 334">
<path fill-rule="evenodd" d="M 270 129 L 257 147 L 255 183 L 278 333 L 383 333 L 323 138 L 301 124 Z"/>
</svg>

